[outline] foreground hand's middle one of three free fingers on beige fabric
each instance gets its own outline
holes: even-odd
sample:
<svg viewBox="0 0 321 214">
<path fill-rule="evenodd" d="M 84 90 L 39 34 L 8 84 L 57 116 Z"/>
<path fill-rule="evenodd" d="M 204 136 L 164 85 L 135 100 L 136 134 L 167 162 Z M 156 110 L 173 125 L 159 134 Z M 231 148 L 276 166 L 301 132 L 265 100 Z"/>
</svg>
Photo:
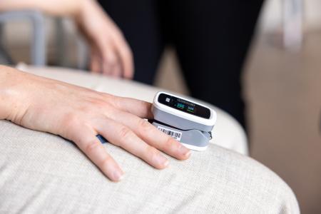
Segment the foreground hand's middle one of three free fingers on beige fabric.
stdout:
<svg viewBox="0 0 321 214">
<path fill-rule="evenodd" d="M 160 151 L 138 138 L 128 127 L 108 118 L 97 121 L 96 124 L 98 133 L 114 145 L 143 159 L 155 168 L 162 169 L 168 166 L 168 159 Z"/>
</svg>

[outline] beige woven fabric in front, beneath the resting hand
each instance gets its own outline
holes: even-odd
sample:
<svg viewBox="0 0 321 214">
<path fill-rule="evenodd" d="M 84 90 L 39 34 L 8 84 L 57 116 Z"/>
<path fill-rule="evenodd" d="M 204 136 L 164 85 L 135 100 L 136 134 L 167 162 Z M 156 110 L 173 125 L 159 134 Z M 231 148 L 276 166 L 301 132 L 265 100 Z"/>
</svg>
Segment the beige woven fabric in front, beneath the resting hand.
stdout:
<svg viewBox="0 0 321 214">
<path fill-rule="evenodd" d="M 63 138 L 0 121 L 0 213 L 299 213 L 275 173 L 219 146 L 165 170 L 104 146 L 126 172 L 120 183 Z"/>
</svg>

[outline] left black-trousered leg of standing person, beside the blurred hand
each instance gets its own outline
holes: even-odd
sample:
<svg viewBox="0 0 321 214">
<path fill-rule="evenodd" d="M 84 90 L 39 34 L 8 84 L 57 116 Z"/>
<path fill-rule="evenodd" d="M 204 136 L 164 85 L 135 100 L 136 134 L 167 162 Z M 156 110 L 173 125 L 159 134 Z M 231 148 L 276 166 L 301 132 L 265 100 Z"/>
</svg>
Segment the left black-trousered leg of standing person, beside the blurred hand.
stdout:
<svg viewBox="0 0 321 214">
<path fill-rule="evenodd" d="M 134 80 L 152 84 L 164 49 L 156 1 L 107 0 L 100 4 L 116 22 L 133 51 Z"/>
</svg>

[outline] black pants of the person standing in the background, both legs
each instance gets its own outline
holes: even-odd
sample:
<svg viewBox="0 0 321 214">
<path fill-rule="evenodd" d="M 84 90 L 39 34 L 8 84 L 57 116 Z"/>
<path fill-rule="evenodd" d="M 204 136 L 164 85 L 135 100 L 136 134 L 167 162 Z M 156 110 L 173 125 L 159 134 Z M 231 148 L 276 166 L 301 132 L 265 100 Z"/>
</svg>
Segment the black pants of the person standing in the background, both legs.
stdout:
<svg viewBox="0 0 321 214">
<path fill-rule="evenodd" d="M 100 2 L 133 50 L 136 81 L 152 84 L 165 45 L 175 47 L 191 95 L 243 126 L 240 74 L 263 0 Z"/>
</svg>

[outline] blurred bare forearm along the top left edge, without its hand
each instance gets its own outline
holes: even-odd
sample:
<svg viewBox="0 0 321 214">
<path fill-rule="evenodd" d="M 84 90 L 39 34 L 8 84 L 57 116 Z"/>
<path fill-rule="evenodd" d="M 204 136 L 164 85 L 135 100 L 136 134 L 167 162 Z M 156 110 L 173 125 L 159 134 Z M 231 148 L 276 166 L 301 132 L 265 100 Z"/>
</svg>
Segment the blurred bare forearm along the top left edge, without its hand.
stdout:
<svg viewBox="0 0 321 214">
<path fill-rule="evenodd" d="M 37 9 L 54 16 L 77 16 L 86 1 L 94 0 L 6 0 L 0 1 L 0 11 Z"/>
</svg>

